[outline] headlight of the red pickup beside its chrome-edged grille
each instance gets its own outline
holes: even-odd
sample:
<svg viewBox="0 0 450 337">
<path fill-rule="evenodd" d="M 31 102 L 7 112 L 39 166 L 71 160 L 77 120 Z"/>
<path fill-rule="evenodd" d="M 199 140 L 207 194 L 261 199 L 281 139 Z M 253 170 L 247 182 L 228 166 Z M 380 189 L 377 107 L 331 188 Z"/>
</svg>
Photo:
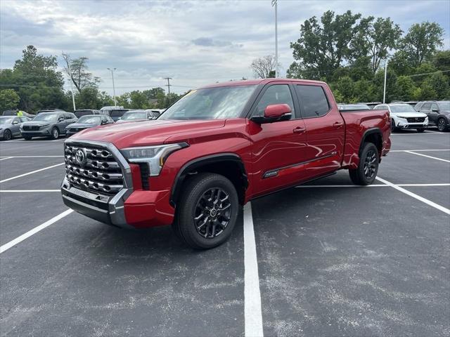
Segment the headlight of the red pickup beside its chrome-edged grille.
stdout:
<svg viewBox="0 0 450 337">
<path fill-rule="evenodd" d="M 130 163 L 146 163 L 148 164 L 148 176 L 159 176 L 162 166 L 169 157 L 169 154 L 177 150 L 188 147 L 187 143 L 175 143 L 166 145 L 128 147 L 120 152 Z"/>
</svg>

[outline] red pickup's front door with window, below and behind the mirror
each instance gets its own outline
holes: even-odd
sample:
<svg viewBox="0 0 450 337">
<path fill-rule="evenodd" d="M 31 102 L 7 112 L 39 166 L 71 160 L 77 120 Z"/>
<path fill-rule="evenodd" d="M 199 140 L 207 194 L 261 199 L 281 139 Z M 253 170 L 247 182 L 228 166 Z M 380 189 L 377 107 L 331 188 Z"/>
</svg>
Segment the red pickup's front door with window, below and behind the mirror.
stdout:
<svg viewBox="0 0 450 337">
<path fill-rule="evenodd" d="M 292 117 L 287 121 L 258 124 L 250 120 L 249 134 L 252 141 L 253 193 L 265 194 L 271 190 L 293 185 L 302 180 L 297 165 L 306 160 L 306 134 L 300 117 L 298 103 L 288 81 L 269 84 L 251 110 L 251 116 L 262 116 L 268 105 L 287 104 Z"/>
</svg>

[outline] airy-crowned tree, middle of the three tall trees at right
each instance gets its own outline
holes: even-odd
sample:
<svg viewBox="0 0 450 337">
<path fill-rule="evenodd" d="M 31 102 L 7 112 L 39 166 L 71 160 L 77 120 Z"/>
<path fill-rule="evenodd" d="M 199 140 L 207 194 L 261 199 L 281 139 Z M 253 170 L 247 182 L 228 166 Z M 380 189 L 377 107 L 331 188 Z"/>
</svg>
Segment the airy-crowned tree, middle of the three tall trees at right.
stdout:
<svg viewBox="0 0 450 337">
<path fill-rule="evenodd" d="M 375 22 L 373 20 L 372 16 L 361 19 L 352 48 L 359 57 L 370 57 L 372 72 L 375 74 L 380 62 L 390 50 L 397 47 L 403 31 L 390 18 L 377 18 Z"/>
</svg>

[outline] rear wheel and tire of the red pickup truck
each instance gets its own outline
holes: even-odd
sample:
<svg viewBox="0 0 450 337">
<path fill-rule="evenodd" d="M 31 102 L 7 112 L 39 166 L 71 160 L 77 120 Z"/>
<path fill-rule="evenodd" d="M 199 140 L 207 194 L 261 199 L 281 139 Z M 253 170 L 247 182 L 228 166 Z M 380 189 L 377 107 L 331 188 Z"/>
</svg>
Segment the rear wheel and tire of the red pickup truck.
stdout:
<svg viewBox="0 0 450 337">
<path fill-rule="evenodd" d="M 364 143 L 357 169 L 350 169 L 350 179 L 355 185 L 371 185 L 378 173 L 380 157 L 373 143 Z"/>
</svg>

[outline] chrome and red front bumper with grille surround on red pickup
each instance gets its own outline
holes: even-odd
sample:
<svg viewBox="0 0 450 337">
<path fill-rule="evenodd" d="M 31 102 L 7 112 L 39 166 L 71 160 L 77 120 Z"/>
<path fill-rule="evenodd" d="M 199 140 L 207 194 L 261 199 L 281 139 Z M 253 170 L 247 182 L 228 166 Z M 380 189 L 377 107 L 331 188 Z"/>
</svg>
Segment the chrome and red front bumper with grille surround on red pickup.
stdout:
<svg viewBox="0 0 450 337">
<path fill-rule="evenodd" d="M 93 193 L 74 187 L 65 177 L 61 194 L 66 206 L 101 223 L 128 229 L 170 225 L 174 209 L 169 204 L 170 190 L 141 190 L 136 177 L 139 166 L 128 164 L 117 148 L 110 143 L 68 139 L 70 144 L 95 144 L 112 152 L 124 174 L 124 187 L 113 196 Z M 135 186 L 134 186 L 135 185 Z"/>
</svg>

